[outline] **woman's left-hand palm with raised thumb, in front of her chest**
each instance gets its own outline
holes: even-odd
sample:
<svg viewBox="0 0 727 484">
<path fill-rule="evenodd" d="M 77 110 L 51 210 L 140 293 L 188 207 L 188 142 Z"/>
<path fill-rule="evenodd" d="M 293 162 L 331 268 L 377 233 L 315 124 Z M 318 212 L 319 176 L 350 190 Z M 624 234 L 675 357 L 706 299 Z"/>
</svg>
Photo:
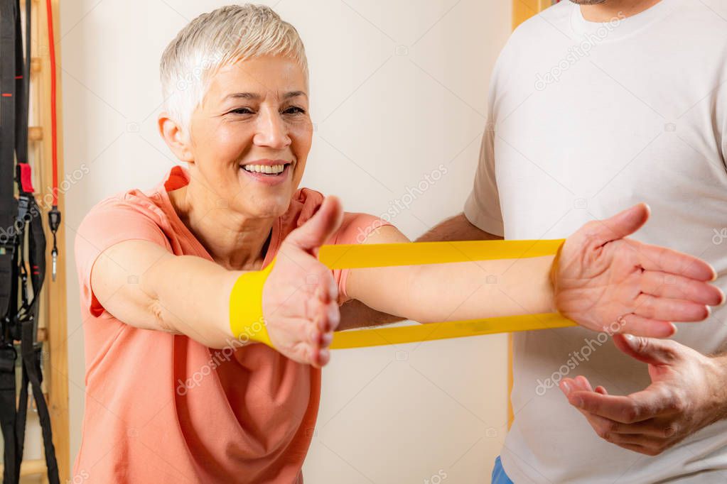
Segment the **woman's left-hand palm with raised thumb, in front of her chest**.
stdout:
<svg viewBox="0 0 727 484">
<path fill-rule="evenodd" d="M 262 291 L 262 313 L 276 350 L 299 363 L 324 366 L 339 324 L 338 287 L 318 249 L 341 225 L 343 210 L 326 197 L 316 215 L 284 240 Z"/>
</svg>

